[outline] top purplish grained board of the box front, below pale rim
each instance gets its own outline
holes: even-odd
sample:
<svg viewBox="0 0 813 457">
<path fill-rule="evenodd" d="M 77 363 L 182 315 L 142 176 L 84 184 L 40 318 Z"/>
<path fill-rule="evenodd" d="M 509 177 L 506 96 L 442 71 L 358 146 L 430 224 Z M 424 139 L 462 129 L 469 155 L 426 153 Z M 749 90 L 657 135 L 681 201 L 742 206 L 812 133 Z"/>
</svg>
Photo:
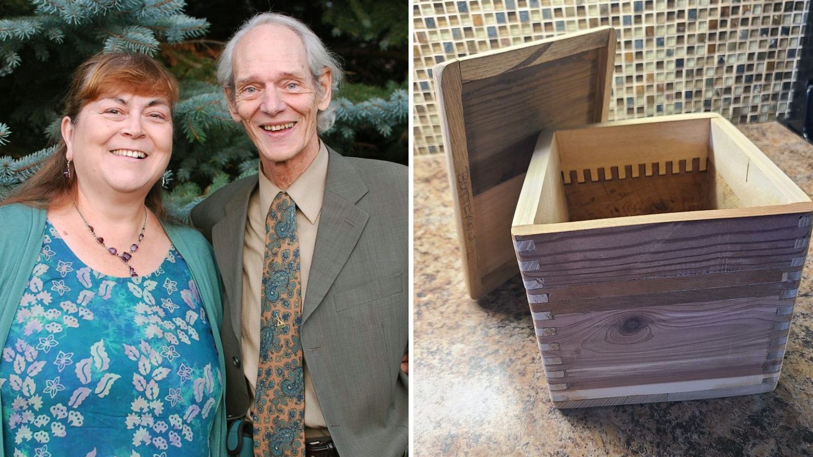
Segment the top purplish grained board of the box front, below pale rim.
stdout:
<svg viewBox="0 0 813 457">
<path fill-rule="evenodd" d="M 539 287 L 801 267 L 809 215 L 594 228 L 517 237 L 525 281 Z"/>
</svg>

